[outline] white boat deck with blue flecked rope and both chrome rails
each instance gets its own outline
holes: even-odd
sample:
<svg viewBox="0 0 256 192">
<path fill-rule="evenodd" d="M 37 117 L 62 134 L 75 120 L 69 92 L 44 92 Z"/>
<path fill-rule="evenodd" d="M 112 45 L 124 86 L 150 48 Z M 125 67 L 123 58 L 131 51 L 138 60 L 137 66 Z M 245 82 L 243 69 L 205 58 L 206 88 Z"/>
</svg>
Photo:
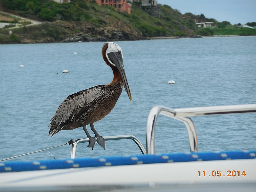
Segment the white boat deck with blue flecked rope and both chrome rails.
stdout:
<svg viewBox="0 0 256 192">
<path fill-rule="evenodd" d="M 256 112 L 256 104 L 205 108 L 152 108 L 148 116 L 147 151 L 132 135 L 142 155 L 63 160 L 0 162 L 0 191 L 255 191 L 256 150 L 198 152 L 196 129 L 190 116 Z M 155 154 L 155 125 L 159 114 L 182 121 L 188 131 L 190 153 Z"/>
</svg>

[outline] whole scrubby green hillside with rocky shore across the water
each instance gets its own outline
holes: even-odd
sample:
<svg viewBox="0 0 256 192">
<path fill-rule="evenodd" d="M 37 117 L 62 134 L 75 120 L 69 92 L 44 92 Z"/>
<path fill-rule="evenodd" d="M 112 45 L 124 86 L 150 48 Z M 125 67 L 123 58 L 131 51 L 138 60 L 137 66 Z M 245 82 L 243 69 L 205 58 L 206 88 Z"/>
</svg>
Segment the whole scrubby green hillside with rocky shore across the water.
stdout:
<svg viewBox="0 0 256 192">
<path fill-rule="evenodd" d="M 0 11 L 43 21 L 35 25 L 0 30 L 0 43 L 51 43 L 77 41 L 140 40 L 152 37 L 195 37 L 214 35 L 214 29 L 198 28 L 195 15 L 182 15 L 168 5 L 161 5 L 160 16 L 142 11 L 140 3 L 132 3 L 131 14 L 95 1 L 73 0 L 58 4 L 48 0 L 2 0 Z M 207 19 L 205 20 L 214 20 Z M 218 21 L 214 20 L 216 24 Z M 239 34 L 241 35 L 241 34 Z M 243 34 L 242 34 L 243 35 Z M 256 35 L 255 34 L 250 35 Z"/>
</svg>

